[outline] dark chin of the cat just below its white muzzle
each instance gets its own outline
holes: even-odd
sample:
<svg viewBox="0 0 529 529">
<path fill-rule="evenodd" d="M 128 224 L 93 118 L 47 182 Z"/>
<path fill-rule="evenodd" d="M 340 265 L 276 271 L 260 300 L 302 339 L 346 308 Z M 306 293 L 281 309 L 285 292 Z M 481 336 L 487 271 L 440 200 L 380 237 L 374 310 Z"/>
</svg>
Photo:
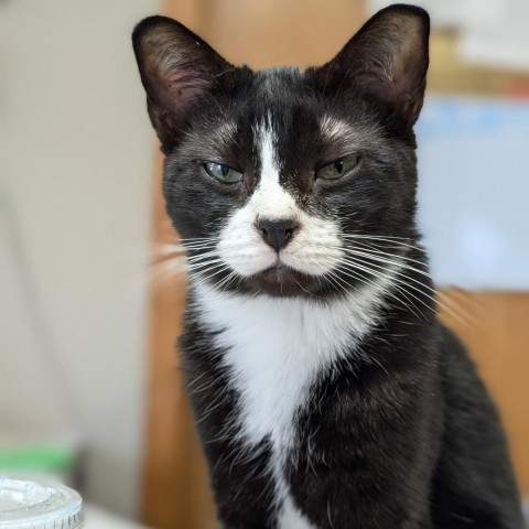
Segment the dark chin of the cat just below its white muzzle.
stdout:
<svg viewBox="0 0 529 529">
<path fill-rule="evenodd" d="M 249 278 L 252 287 L 274 298 L 314 295 L 321 289 L 315 276 L 294 270 L 281 262 Z"/>
</svg>

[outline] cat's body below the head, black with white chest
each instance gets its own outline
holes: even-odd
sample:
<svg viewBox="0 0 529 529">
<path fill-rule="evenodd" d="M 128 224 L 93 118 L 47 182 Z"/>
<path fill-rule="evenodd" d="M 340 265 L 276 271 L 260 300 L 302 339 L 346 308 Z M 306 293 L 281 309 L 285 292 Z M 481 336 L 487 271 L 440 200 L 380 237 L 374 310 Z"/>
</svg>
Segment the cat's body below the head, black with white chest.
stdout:
<svg viewBox="0 0 529 529">
<path fill-rule="evenodd" d="M 227 528 L 521 528 L 494 408 L 433 319 L 196 303 L 184 369 Z"/>
</svg>

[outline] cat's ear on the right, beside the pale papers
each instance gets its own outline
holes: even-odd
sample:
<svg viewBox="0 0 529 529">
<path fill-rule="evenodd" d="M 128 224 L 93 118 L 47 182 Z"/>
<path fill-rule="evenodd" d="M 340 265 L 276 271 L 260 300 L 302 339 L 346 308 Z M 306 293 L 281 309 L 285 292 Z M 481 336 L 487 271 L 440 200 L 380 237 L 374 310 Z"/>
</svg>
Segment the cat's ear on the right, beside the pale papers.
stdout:
<svg viewBox="0 0 529 529">
<path fill-rule="evenodd" d="M 390 6 L 369 19 L 316 76 L 326 93 L 352 87 L 411 128 L 424 98 L 429 35 L 423 9 Z"/>
</svg>

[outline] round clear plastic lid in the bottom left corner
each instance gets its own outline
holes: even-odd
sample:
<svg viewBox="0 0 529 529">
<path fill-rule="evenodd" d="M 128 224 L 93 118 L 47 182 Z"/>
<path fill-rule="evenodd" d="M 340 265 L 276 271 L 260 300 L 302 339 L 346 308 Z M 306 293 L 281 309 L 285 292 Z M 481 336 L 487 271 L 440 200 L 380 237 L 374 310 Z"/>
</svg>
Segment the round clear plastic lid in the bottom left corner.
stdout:
<svg viewBox="0 0 529 529">
<path fill-rule="evenodd" d="M 64 485 L 0 476 L 0 528 L 80 528 L 80 496 Z"/>
</svg>

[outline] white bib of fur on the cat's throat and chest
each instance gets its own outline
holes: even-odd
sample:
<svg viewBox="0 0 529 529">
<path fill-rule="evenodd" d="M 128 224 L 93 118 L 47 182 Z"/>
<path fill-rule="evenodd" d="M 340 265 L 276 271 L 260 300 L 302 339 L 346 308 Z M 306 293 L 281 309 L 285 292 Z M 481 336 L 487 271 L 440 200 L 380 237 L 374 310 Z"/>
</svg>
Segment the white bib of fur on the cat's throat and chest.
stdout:
<svg viewBox="0 0 529 529">
<path fill-rule="evenodd" d="M 239 421 L 246 442 L 272 443 L 272 474 L 280 529 L 311 529 L 290 498 L 283 477 L 294 417 L 316 377 L 361 339 L 377 321 L 390 276 L 326 304 L 304 299 L 241 296 L 206 283 L 195 287 L 199 319 L 217 331 L 216 345 L 240 395 Z M 298 520 L 294 521 L 292 520 Z"/>
</svg>

